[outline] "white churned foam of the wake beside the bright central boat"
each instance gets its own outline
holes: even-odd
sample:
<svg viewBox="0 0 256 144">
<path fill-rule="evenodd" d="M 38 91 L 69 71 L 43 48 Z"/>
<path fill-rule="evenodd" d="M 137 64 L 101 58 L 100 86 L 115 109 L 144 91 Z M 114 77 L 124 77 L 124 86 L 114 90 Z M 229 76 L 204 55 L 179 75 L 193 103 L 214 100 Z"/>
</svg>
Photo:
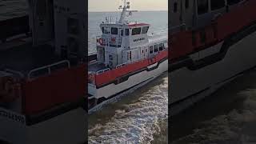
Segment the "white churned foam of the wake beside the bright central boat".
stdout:
<svg viewBox="0 0 256 144">
<path fill-rule="evenodd" d="M 161 131 L 159 121 L 168 115 L 168 78 L 141 94 L 136 101 L 115 110 L 114 116 L 89 130 L 89 143 L 150 143 Z"/>
</svg>

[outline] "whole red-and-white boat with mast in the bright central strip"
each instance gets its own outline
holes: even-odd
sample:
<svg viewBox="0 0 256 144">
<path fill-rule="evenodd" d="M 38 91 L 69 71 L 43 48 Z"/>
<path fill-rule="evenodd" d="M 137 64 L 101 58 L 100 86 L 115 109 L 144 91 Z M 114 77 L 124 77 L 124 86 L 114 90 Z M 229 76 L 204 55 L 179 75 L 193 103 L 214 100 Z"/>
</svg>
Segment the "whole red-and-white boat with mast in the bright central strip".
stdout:
<svg viewBox="0 0 256 144">
<path fill-rule="evenodd" d="M 167 34 L 148 34 L 150 24 L 130 22 L 130 2 L 125 0 L 119 9 L 119 20 L 106 18 L 100 24 L 102 35 L 96 38 L 97 54 L 90 55 L 89 114 L 168 70 Z"/>
</svg>

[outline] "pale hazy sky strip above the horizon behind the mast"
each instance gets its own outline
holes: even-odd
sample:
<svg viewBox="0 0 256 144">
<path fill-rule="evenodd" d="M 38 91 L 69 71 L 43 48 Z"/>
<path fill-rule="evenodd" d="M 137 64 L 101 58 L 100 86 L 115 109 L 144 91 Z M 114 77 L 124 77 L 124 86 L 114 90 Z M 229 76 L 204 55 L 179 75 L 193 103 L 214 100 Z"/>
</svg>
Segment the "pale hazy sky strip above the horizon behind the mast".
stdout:
<svg viewBox="0 0 256 144">
<path fill-rule="evenodd" d="M 117 11 L 121 0 L 89 0 L 89 11 Z M 168 0 L 130 0 L 130 10 L 168 10 Z"/>
</svg>

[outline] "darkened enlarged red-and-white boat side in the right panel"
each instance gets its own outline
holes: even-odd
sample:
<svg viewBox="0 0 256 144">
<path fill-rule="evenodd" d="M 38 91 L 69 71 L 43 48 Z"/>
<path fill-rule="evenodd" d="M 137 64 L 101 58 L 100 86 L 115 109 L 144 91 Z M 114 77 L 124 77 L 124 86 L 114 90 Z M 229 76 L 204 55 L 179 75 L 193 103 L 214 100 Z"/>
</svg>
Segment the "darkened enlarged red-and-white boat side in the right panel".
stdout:
<svg viewBox="0 0 256 144">
<path fill-rule="evenodd" d="M 256 66 L 256 1 L 170 1 L 172 115 Z"/>
</svg>

